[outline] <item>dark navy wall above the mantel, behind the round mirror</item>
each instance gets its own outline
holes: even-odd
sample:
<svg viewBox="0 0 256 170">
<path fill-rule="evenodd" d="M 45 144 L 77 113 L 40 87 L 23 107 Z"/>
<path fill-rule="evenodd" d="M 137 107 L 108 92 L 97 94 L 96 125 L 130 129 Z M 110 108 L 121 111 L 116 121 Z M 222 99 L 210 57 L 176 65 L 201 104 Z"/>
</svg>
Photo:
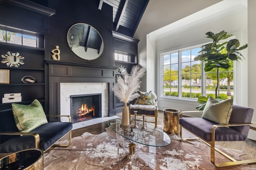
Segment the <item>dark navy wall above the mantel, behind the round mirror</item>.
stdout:
<svg viewBox="0 0 256 170">
<path fill-rule="evenodd" d="M 91 63 L 114 66 L 113 55 L 113 21 L 112 7 L 103 3 L 102 10 L 98 9 L 99 0 L 49 0 L 48 7 L 56 10 L 50 17 L 49 37 L 46 39 L 46 59 L 52 59 L 50 52 L 56 45 L 60 49 L 61 61 Z M 87 61 L 76 56 L 68 46 L 68 29 L 75 23 L 87 23 L 94 27 L 102 36 L 104 51 L 95 60 Z M 48 54 L 47 54 L 48 53 Z"/>
</svg>

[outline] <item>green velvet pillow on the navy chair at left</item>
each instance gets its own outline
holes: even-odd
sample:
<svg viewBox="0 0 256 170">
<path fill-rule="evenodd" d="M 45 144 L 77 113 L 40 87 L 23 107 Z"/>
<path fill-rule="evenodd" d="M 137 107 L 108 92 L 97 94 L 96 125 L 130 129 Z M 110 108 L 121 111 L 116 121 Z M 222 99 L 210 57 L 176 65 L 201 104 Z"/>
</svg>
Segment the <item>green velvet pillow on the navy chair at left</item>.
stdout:
<svg viewBox="0 0 256 170">
<path fill-rule="evenodd" d="M 12 104 L 15 123 L 21 132 L 30 132 L 36 127 L 48 123 L 44 109 L 38 100 L 30 105 Z"/>
</svg>

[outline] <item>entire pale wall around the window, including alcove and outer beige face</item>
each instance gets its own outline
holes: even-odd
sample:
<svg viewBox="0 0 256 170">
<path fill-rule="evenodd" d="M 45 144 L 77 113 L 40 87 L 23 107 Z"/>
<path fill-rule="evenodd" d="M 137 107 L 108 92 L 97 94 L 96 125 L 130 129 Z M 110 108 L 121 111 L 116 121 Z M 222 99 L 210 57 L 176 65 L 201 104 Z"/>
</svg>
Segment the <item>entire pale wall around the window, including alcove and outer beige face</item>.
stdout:
<svg viewBox="0 0 256 170">
<path fill-rule="evenodd" d="M 208 20 L 206 21 L 206 25 L 200 25 L 200 27 L 195 27 L 194 25 L 188 29 L 188 31 L 183 31 L 183 27 L 177 28 L 178 31 L 183 31 L 184 35 L 181 33 L 176 32 L 170 38 L 167 38 L 164 41 L 160 41 L 157 39 L 156 36 L 150 35 L 155 30 L 158 30 L 170 23 L 175 23 L 180 21 L 191 14 L 199 12 L 200 10 L 204 10 L 205 8 L 210 8 L 210 6 L 214 4 L 218 4 L 218 2 L 226 2 L 224 7 L 229 8 L 230 5 L 234 4 L 234 2 L 242 4 L 248 3 L 248 18 L 246 14 L 242 13 L 242 18 L 240 16 L 236 16 L 231 18 L 230 20 L 226 18 L 226 20 L 222 20 L 221 25 L 212 25 L 209 23 Z M 218 9 L 216 9 L 218 10 Z M 214 11 L 216 11 L 214 10 Z M 223 10 L 224 12 L 225 10 Z M 210 11 L 213 12 L 213 11 Z M 219 12 L 221 13 L 221 12 Z M 256 78 L 254 76 L 254 68 L 256 63 L 256 57 L 254 53 L 254 47 L 256 47 L 256 1 L 255 0 L 215 0 L 215 1 L 205 1 L 205 0 L 150 0 L 148 6 L 145 10 L 144 15 L 142 16 L 142 20 L 138 25 L 134 38 L 140 39 L 138 44 L 138 63 L 145 68 L 151 69 L 156 68 L 156 70 L 150 70 L 147 72 L 146 76 L 142 79 L 142 89 L 150 90 L 156 89 L 156 94 L 158 96 L 158 102 L 161 104 L 160 109 L 168 108 L 168 107 L 175 107 L 182 110 L 191 110 L 195 109 L 195 106 L 198 106 L 197 102 L 192 101 L 182 101 L 180 100 L 166 100 L 166 98 L 160 98 L 160 85 L 159 85 L 159 62 L 160 59 L 160 52 L 167 51 L 169 49 L 175 49 L 178 47 L 188 47 L 191 45 L 195 45 L 198 43 L 207 42 L 207 38 L 203 39 L 205 33 L 207 31 L 212 31 L 217 33 L 221 30 L 228 31 L 228 33 L 236 35 L 236 38 L 239 39 L 240 44 L 244 45 L 244 43 L 248 43 L 248 48 L 242 51 L 244 57 L 246 57 L 245 61 L 240 63 L 236 62 L 236 72 L 238 74 L 235 75 L 236 81 L 236 91 L 235 95 L 237 96 L 235 99 L 236 104 L 240 104 L 243 106 L 248 105 L 249 107 L 254 108 L 254 115 L 252 121 L 256 122 L 256 105 L 255 105 L 255 84 Z M 193 20 L 194 18 L 190 18 Z M 240 23 L 240 21 L 242 23 Z M 214 21 L 216 22 L 216 21 Z M 248 22 L 248 23 L 247 23 Z M 225 25 L 225 26 L 224 26 Z M 231 27 L 230 27 L 231 26 Z M 239 28 L 240 26 L 240 28 Z M 148 37 L 147 37 L 148 35 Z M 186 37 L 185 35 L 188 35 Z M 166 36 L 167 35 L 163 35 Z M 179 41 L 182 37 L 183 41 Z M 202 37 L 202 39 L 198 39 Z M 195 42 L 194 42 L 195 40 Z M 147 55 L 148 55 L 148 48 L 153 47 L 154 41 L 159 41 L 156 43 L 156 63 L 153 63 L 152 56 L 150 56 L 150 62 L 147 62 Z M 185 42 L 185 43 L 184 43 Z M 151 45 L 148 45 L 150 43 Z M 172 45 L 168 44 L 171 43 Z M 160 47 L 161 46 L 161 47 Z M 163 46 L 163 47 L 162 47 Z M 150 51 L 154 51 L 150 49 Z M 156 66 L 155 66 L 156 65 Z M 156 72 L 156 77 L 152 76 L 152 72 Z M 156 82 L 154 85 L 152 82 Z M 147 86 L 149 88 L 147 88 Z M 249 133 L 249 138 L 256 140 L 256 132 L 251 131 Z"/>
</svg>

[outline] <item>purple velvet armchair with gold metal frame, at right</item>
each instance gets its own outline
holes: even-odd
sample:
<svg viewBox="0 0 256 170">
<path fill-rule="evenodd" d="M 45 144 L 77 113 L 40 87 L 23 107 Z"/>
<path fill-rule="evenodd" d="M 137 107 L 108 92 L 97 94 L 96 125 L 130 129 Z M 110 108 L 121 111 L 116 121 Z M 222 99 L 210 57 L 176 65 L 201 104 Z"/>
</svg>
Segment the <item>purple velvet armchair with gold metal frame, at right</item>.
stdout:
<svg viewBox="0 0 256 170">
<path fill-rule="evenodd" d="M 184 113 L 195 113 L 199 111 L 183 111 L 180 113 L 180 137 L 182 138 L 182 127 L 198 137 L 202 142 L 210 146 L 211 162 L 217 167 L 232 166 L 244 163 L 255 163 L 256 159 L 236 161 L 224 152 L 215 148 L 215 141 L 245 141 L 252 123 L 253 109 L 250 107 L 233 105 L 228 124 L 216 124 L 202 117 L 182 117 Z M 227 128 L 228 127 L 228 128 Z M 187 138 L 192 139 L 192 138 Z M 218 151 L 232 162 L 216 163 L 214 151 Z"/>
</svg>

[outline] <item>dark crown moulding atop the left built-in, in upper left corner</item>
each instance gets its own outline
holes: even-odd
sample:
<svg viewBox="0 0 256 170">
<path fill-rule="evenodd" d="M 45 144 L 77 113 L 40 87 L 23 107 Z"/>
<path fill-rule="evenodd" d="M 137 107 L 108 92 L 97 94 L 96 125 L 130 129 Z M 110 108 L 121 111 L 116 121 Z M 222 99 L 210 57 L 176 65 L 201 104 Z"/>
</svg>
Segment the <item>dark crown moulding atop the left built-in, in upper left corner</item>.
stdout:
<svg viewBox="0 0 256 170">
<path fill-rule="evenodd" d="M 36 4 L 34 2 L 28 1 L 28 0 L 1 0 L 4 2 L 8 2 L 10 4 L 14 4 L 17 6 L 21 6 L 23 8 L 27 8 L 29 10 L 33 10 L 48 16 L 52 16 L 55 14 L 55 10 L 51 9 L 51 8 L 47 8 L 45 6 Z"/>
</svg>

